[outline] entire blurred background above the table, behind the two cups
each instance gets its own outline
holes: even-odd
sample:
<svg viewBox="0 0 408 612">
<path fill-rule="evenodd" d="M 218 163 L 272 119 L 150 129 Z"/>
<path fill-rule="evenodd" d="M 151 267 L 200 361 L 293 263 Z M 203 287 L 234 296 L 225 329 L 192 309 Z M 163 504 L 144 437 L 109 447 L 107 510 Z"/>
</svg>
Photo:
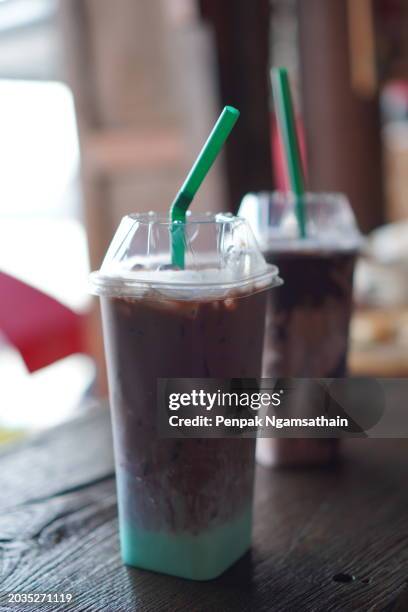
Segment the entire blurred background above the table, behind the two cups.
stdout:
<svg viewBox="0 0 408 612">
<path fill-rule="evenodd" d="M 0 0 L 0 440 L 106 393 L 87 275 L 124 214 L 168 209 L 224 104 L 239 129 L 195 207 L 285 188 L 273 65 L 309 189 L 368 235 L 351 373 L 408 376 L 406 0 Z"/>
</svg>

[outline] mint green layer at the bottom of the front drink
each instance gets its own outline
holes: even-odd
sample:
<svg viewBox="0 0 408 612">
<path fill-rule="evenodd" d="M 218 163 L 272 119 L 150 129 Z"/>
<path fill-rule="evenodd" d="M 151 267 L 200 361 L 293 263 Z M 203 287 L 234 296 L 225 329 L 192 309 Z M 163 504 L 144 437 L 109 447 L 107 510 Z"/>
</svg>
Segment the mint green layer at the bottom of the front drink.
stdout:
<svg viewBox="0 0 408 612">
<path fill-rule="evenodd" d="M 238 518 L 199 535 L 144 531 L 122 521 L 123 562 L 190 580 L 211 580 L 249 549 L 251 514 L 248 508 Z"/>
</svg>

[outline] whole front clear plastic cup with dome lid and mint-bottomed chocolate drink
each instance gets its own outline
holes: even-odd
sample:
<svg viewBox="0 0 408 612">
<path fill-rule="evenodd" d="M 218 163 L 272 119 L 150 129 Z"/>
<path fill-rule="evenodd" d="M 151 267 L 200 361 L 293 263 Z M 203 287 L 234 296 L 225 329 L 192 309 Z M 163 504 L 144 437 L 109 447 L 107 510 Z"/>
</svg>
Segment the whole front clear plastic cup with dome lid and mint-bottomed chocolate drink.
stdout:
<svg viewBox="0 0 408 612">
<path fill-rule="evenodd" d="M 185 269 L 170 265 L 171 224 L 122 220 L 100 271 L 122 557 L 184 578 L 214 578 L 250 546 L 252 439 L 168 439 L 158 378 L 256 378 L 266 295 L 280 284 L 247 223 L 187 216 Z"/>
</svg>

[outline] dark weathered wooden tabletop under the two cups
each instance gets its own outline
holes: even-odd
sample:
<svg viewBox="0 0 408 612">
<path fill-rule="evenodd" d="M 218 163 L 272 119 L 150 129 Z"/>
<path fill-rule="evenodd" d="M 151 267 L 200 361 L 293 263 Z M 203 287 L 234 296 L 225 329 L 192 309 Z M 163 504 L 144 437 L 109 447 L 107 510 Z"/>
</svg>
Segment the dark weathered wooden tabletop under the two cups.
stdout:
<svg viewBox="0 0 408 612">
<path fill-rule="evenodd" d="M 253 550 L 197 583 L 119 558 L 108 412 L 0 455 L 0 610 L 408 610 L 407 440 L 350 440 L 331 470 L 258 468 Z M 348 583 L 333 576 L 350 574 Z M 4 603 L 6 592 L 74 603 Z"/>
</svg>

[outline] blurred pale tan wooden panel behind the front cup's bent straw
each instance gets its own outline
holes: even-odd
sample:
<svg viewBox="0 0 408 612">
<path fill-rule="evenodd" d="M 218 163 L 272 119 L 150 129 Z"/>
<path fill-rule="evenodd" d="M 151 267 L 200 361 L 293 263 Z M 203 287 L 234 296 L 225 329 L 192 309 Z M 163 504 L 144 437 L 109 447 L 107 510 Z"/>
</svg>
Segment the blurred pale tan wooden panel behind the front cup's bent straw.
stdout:
<svg viewBox="0 0 408 612">
<path fill-rule="evenodd" d="M 211 40 L 177 0 L 171 10 L 164 0 L 70 0 L 60 14 L 95 268 L 124 214 L 168 210 L 208 134 L 219 107 Z M 222 210 L 219 165 L 194 207 Z"/>
</svg>

